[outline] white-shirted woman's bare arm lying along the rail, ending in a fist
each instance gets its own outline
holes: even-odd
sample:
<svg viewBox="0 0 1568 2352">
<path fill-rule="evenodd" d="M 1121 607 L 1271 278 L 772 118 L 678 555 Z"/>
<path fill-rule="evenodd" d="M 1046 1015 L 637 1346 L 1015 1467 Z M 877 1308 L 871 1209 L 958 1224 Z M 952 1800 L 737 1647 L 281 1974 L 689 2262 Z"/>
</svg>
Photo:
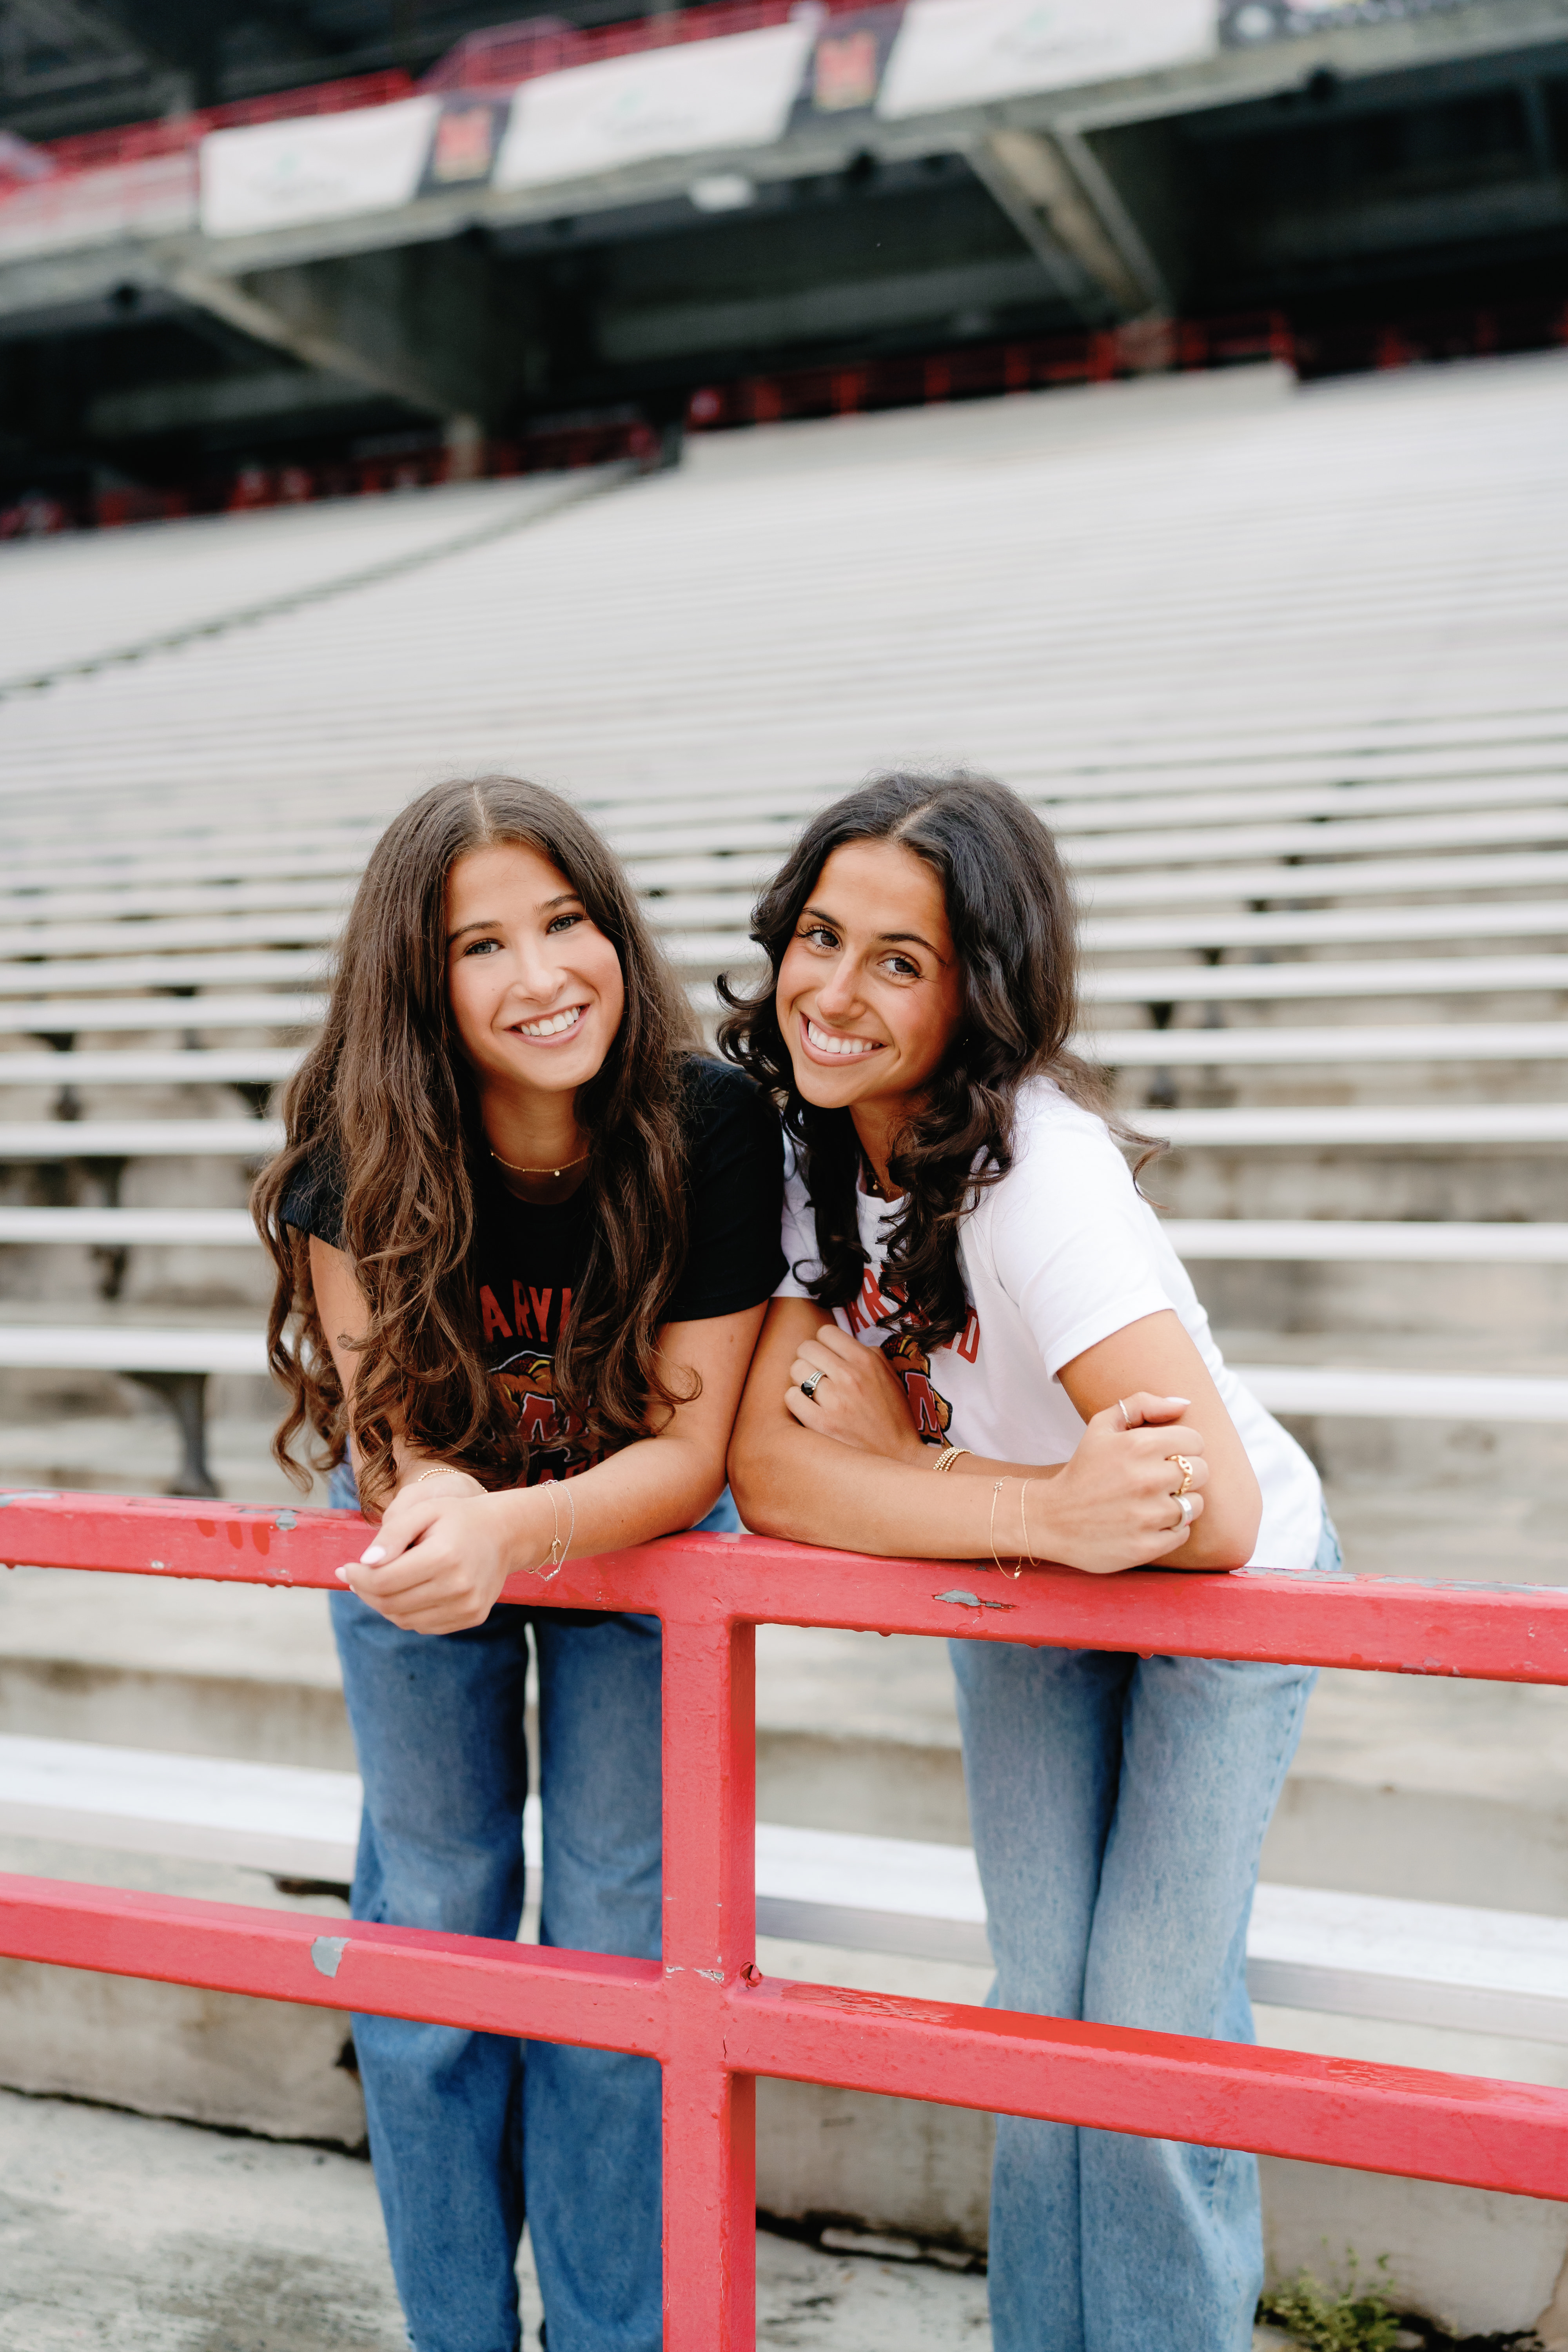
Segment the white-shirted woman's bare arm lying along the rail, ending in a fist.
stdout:
<svg viewBox="0 0 1568 2352">
<path fill-rule="evenodd" d="M 1098 1573 L 1168 1559 L 1182 1545 L 1182 1566 L 1218 1564 L 1208 1552 L 1192 1557 L 1208 1475 L 1197 1425 L 1182 1418 L 1126 1430 L 1117 1409 L 1119 1395 L 1143 1406 L 1145 1416 L 1171 1411 L 1173 1404 L 1180 1409 L 1180 1397 L 1135 1397 L 1138 1383 L 1112 1392 L 1088 1418 L 1072 1461 L 1032 1470 L 1027 1491 L 1018 1465 L 985 1465 L 983 1477 L 933 1477 L 931 1449 L 922 1449 L 924 1458 L 914 1461 L 907 1451 L 867 1451 L 804 1425 L 811 1406 L 799 1397 L 792 1367 L 804 1345 L 818 1343 L 820 1329 L 823 1315 L 811 1301 L 776 1298 L 752 1359 L 729 1449 L 729 1479 L 741 1517 L 759 1534 L 846 1552 L 907 1552 L 914 1559 L 1016 1559 L 1032 1552 L 1041 1562 Z M 1091 1348 L 1077 1362 L 1086 1364 L 1095 1352 Z M 1171 1454 L 1194 1461 L 1192 1531 L 1180 1526 L 1175 1512 L 1180 1472 L 1171 1465 Z M 1251 1468 L 1246 1475 L 1251 1479 Z M 1004 1479 L 999 1491 L 997 1477 Z M 1234 1559 L 1237 1555 L 1225 1564 Z"/>
</svg>

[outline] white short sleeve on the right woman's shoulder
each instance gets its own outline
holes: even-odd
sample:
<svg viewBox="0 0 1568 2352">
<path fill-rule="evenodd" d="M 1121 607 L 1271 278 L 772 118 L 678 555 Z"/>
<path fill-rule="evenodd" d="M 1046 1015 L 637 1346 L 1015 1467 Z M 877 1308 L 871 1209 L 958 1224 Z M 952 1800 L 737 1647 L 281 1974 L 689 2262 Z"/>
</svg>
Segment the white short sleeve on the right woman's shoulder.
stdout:
<svg viewBox="0 0 1568 2352">
<path fill-rule="evenodd" d="M 1053 1378 L 1112 1331 L 1175 1305 L 1131 1169 L 1088 1112 L 1037 1122 L 992 1204 L 997 1282 Z"/>
</svg>

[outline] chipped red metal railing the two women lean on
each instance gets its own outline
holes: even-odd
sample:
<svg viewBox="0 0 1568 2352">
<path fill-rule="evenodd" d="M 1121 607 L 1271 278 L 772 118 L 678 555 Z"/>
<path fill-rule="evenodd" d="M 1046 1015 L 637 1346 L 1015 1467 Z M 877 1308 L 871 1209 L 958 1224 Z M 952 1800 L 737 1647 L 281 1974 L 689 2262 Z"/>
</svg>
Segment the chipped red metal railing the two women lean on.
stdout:
<svg viewBox="0 0 1568 2352">
<path fill-rule="evenodd" d="M 357 1545 L 339 1512 L 0 1491 L 9 1564 L 331 1590 Z M 663 1621 L 663 1962 L 28 1877 L 0 1877 L 0 1952 L 658 2058 L 668 2352 L 755 2343 L 759 2074 L 1568 2199 L 1568 2091 L 778 1983 L 755 1964 L 752 1898 L 759 1623 L 1568 1684 L 1568 1590 L 1267 1571 L 1001 1583 L 670 1536 L 550 1585 L 517 1576 L 505 1597 Z"/>
</svg>

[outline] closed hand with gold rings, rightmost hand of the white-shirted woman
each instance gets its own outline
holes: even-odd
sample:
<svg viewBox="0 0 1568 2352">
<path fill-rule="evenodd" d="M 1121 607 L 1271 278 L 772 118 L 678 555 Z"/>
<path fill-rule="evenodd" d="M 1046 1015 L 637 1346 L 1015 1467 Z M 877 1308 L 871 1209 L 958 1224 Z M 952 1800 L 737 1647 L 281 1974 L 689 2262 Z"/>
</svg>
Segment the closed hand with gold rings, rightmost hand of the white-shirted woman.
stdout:
<svg viewBox="0 0 1568 2352">
<path fill-rule="evenodd" d="M 1204 1512 L 1204 1439 L 1178 1418 L 1185 1397 L 1133 1395 L 1095 1414 L 1051 1479 L 1051 1552 L 1070 1569 L 1114 1576 L 1164 1559 Z M 1182 1472 L 1173 1454 L 1192 1468 Z M 1175 1491 L 1187 1477 L 1182 1515 Z"/>
</svg>

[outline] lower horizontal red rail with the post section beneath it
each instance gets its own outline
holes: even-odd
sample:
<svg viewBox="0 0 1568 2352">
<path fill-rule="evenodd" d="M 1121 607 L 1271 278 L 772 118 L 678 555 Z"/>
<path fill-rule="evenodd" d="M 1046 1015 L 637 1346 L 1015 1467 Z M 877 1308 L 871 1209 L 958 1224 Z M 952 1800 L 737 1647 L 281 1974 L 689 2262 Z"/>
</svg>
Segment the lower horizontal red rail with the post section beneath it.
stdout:
<svg viewBox="0 0 1568 2352">
<path fill-rule="evenodd" d="M 957 2002 L 0 1877 L 14 1959 L 625 2049 L 679 2077 L 668 2274 L 703 2352 L 755 2338 L 757 2074 L 1568 2199 L 1568 2093 Z M 331 1973 L 327 1973 L 331 1969 Z M 743 2220 L 743 2227 L 738 2223 Z M 696 2258 L 696 2265 L 691 2256 Z M 748 2336 L 745 2328 L 752 2328 Z"/>
</svg>

